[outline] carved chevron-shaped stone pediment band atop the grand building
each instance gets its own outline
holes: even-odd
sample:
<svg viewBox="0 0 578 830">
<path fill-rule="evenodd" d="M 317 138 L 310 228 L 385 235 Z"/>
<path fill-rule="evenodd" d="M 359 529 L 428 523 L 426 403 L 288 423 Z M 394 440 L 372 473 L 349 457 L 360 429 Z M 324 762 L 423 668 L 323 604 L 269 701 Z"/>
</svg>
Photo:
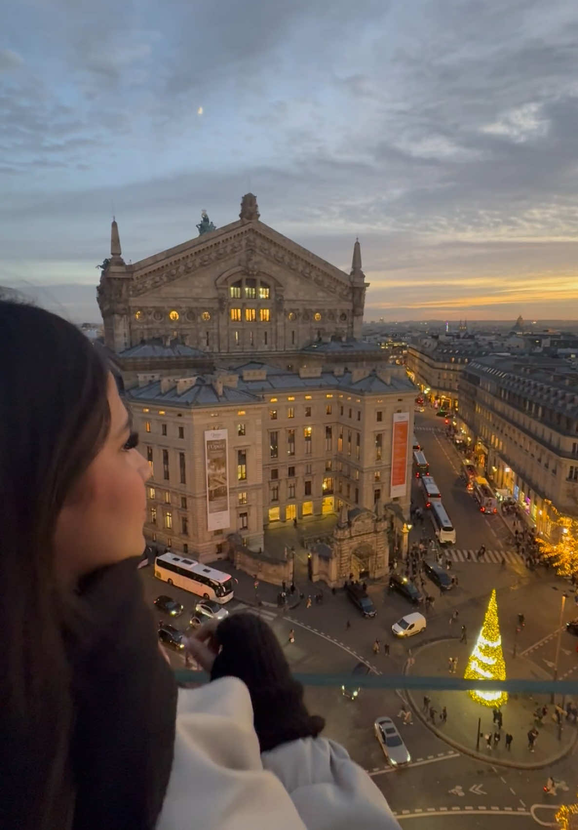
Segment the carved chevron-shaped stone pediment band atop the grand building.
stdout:
<svg viewBox="0 0 578 830">
<path fill-rule="evenodd" d="M 133 273 L 131 295 L 148 294 L 209 267 L 214 271 L 216 263 L 221 264 L 223 276 L 234 268 L 250 272 L 262 267 L 273 274 L 275 269 L 290 271 L 308 286 L 313 283 L 343 299 L 351 291 L 350 278 L 344 271 L 264 222 L 239 220 L 128 266 Z"/>
</svg>

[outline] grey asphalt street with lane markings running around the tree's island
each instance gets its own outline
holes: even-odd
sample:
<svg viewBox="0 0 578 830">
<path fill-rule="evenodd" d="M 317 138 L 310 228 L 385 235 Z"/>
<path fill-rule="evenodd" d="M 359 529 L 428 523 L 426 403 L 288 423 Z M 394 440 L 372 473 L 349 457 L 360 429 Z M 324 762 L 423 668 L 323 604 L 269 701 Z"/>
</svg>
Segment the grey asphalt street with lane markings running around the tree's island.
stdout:
<svg viewBox="0 0 578 830">
<path fill-rule="evenodd" d="M 552 676 L 560 628 L 561 593 L 568 586 L 551 572 L 528 570 L 515 555 L 508 557 L 502 567 L 497 558 L 478 562 L 475 556 L 467 559 L 459 554 L 460 551 L 475 551 L 480 544 L 485 544 L 488 551 L 508 553 L 512 550 L 512 537 L 500 515 L 484 516 L 477 509 L 459 479 L 459 456 L 445 437 L 444 424 L 440 420 L 427 413 L 416 415 L 415 434 L 423 445 L 431 474 L 440 486 L 444 505 L 456 528 L 456 545 L 449 549 L 449 554 L 451 572 L 459 577 L 458 587 L 440 596 L 433 583 L 428 583 L 428 591 L 435 597 L 435 604 L 426 615 L 426 631 L 410 640 L 397 639 L 391 632 L 392 623 L 413 608 L 404 598 L 388 593 L 386 579 L 368 587 L 377 608 L 377 616 L 373 619 L 362 618 L 342 590 L 333 594 L 324 589 L 322 604 L 313 603 L 311 608 L 307 608 L 302 602 L 292 610 L 270 605 L 258 609 L 248 607 L 237 599 L 232 600 L 229 605 L 231 613 L 260 613 L 273 626 L 294 671 L 316 674 L 349 672 L 363 660 L 379 673 L 401 674 L 406 666 L 408 649 L 414 647 L 418 658 L 412 673 L 419 675 L 420 643 L 455 637 L 457 631 L 449 623 L 454 611 L 458 611 L 459 623 L 464 624 L 469 632 L 469 644 L 461 647 L 463 655 L 462 651 L 459 652 L 460 671 L 464 671 L 483 621 L 489 594 L 492 588 L 496 588 L 507 671 L 510 666 L 511 674 L 517 675 L 520 666 L 528 666 L 532 678 L 547 679 Z M 416 487 L 415 481 L 413 486 Z M 422 504 L 417 489 L 414 500 L 417 505 Z M 433 535 L 427 515 L 424 526 L 427 535 Z M 419 537 L 420 525 L 417 525 L 411 531 L 410 540 Z M 223 563 L 222 567 L 225 568 L 226 564 Z M 152 567 L 142 569 L 140 573 L 149 602 L 152 603 L 160 593 L 168 593 L 182 602 L 187 612 L 193 607 L 196 601 L 194 596 L 159 583 L 154 579 Z M 317 590 L 313 584 L 302 585 L 301 588 L 306 595 Z M 187 612 L 177 618 L 177 627 L 186 627 Z M 155 613 L 158 612 L 155 610 Z M 526 625 L 519 632 L 518 613 L 524 613 L 526 617 Z M 564 623 L 576 616 L 578 609 L 571 595 L 566 600 Z M 295 632 L 293 644 L 289 643 L 290 628 L 294 628 Z M 376 638 L 381 642 L 378 654 L 372 652 Z M 385 643 L 390 646 L 388 656 L 383 650 Z M 576 644 L 578 638 L 572 637 L 566 630 L 561 631 L 558 676 L 573 676 L 578 666 Z M 170 659 L 175 668 L 183 666 L 182 655 L 171 652 Z M 514 661 L 517 661 L 517 668 L 513 665 Z M 571 754 L 547 769 L 500 767 L 494 765 L 491 758 L 470 757 L 449 745 L 415 713 L 413 725 L 401 725 L 401 720 L 396 719 L 403 702 L 401 694 L 390 690 L 362 689 L 357 700 L 350 701 L 342 696 L 338 688 L 306 688 L 308 706 L 326 718 L 325 734 L 345 745 L 352 758 L 367 769 L 404 828 L 426 816 L 430 817 L 430 821 L 422 822 L 421 826 L 441 826 L 435 818 L 442 815 L 445 817 L 444 826 L 450 823 L 450 817 L 459 816 L 458 820 L 451 822 L 456 828 L 490 828 L 496 820 L 504 828 L 528 827 L 538 819 L 547 823 L 553 817 L 548 799 L 553 799 L 554 803 L 563 800 L 561 793 L 556 797 L 543 793 L 542 785 L 547 776 L 551 774 L 556 779 L 566 780 L 570 791 L 574 792 L 576 745 Z M 447 696 L 449 716 L 452 711 L 451 695 L 456 694 L 462 693 L 448 693 Z M 542 704 L 546 701 L 534 702 Z M 487 712 L 481 714 L 487 715 Z M 393 770 L 386 765 L 373 730 L 374 720 L 379 715 L 390 715 L 396 719 L 412 758 L 407 768 Z M 552 731 L 554 725 L 546 723 L 545 728 Z M 576 730 L 576 726 L 567 724 L 565 730 Z M 470 747 L 474 745 L 474 733 L 471 738 Z M 464 751 L 466 749 L 464 746 Z M 564 794 L 567 800 L 568 796 Z M 468 818 L 465 818 L 466 814 Z"/>
</svg>

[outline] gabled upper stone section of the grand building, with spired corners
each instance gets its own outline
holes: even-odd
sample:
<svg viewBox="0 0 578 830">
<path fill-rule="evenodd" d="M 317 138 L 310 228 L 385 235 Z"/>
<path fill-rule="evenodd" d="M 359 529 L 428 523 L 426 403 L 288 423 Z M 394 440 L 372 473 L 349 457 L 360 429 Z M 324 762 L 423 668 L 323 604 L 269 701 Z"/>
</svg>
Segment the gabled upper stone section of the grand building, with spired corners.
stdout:
<svg viewBox="0 0 578 830">
<path fill-rule="evenodd" d="M 350 274 L 260 222 L 255 196 L 240 218 L 127 265 L 112 223 L 98 302 L 109 349 L 178 339 L 221 358 L 299 353 L 315 342 L 357 339 L 367 283 L 359 242 Z"/>
</svg>

